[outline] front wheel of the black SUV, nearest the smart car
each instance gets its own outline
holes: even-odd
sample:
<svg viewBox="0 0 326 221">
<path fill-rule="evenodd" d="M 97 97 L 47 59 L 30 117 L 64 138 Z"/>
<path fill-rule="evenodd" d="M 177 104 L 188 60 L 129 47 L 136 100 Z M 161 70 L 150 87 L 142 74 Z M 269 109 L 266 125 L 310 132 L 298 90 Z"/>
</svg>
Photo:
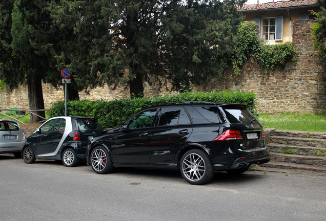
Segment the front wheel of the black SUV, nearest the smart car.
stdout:
<svg viewBox="0 0 326 221">
<path fill-rule="evenodd" d="M 92 150 L 90 162 L 98 174 L 110 173 L 114 169 L 109 151 L 103 146 L 97 146 Z"/>
</svg>

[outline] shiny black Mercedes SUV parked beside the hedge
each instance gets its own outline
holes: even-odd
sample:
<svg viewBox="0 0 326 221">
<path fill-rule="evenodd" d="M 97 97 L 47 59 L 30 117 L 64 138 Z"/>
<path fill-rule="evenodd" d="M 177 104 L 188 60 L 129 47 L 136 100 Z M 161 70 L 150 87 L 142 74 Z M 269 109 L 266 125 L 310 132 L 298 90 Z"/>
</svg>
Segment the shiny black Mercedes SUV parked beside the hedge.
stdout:
<svg viewBox="0 0 326 221">
<path fill-rule="evenodd" d="M 201 101 L 147 107 L 94 136 L 87 150 L 96 173 L 118 166 L 174 168 L 196 185 L 215 170 L 242 173 L 269 161 L 262 126 L 246 105 Z"/>
</svg>

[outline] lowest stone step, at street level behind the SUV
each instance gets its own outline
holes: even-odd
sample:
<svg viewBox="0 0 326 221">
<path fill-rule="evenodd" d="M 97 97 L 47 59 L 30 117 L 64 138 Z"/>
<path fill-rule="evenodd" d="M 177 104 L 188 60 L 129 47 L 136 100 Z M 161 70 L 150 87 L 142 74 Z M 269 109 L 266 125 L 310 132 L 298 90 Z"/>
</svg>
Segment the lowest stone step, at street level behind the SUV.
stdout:
<svg viewBox="0 0 326 221">
<path fill-rule="evenodd" d="M 270 161 L 269 163 L 266 164 L 256 164 L 252 167 L 253 170 L 268 170 L 268 168 L 294 169 L 296 171 L 307 170 L 313 172 L 326 173 L 326 167 L 324 166 L 314 166 L 314 165 L 275 162 L 275 161 Z"/>
</svg>

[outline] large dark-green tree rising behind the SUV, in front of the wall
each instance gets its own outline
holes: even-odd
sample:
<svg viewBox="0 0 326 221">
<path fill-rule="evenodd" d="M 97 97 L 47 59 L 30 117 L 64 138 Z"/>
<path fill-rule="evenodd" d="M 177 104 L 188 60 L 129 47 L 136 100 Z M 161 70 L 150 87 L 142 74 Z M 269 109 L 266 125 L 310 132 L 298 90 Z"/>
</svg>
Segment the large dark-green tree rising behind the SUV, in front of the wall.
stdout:
<svg viewBox="0 0 326 221">
<path fill-rule="evenodd" d="M 242 20 L 236 3 L 243 2 L 123 0 L 103 6 L 99 23 L 109 24 L 110 51 L 102 61 L 110 65 L 101 76 L 108 84 L 129 81 L 130 94 L 139 97 L 151 77 L 179 89 L 222 74 Z"/>
</svg>

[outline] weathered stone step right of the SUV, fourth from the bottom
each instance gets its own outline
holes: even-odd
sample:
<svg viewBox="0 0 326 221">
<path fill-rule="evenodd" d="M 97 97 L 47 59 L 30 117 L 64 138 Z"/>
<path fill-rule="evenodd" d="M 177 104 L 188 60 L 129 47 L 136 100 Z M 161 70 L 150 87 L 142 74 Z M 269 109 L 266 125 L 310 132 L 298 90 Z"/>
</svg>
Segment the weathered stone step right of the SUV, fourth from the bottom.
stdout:
<svg viewBox="0 0 326 221">
<path fill-rule="evenodd" d="M 326 139 L 320 139 L 320 138 L 271 136 L 271 140 L 269 143 L 297 145 L 297 146 L 311 146 L 311 147 L 326 147 Z"/>
</svg>

